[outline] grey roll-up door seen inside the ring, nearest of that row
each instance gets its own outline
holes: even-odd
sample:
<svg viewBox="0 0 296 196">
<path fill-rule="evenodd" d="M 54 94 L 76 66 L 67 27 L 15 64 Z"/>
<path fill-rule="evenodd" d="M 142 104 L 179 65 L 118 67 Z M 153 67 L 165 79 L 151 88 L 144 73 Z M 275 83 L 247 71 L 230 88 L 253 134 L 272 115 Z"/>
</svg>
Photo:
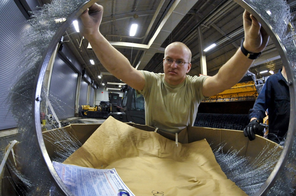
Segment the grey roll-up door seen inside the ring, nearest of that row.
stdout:
<svg viewBox="0 0 296 196">
<path fill-rule="evenodd" d="M 49 100 L 58 119 L 74 117 L 78 73 L 57 54 L 49 86 Z M 48 110 L 50 112 L 50 109 Z"/>
</svg>

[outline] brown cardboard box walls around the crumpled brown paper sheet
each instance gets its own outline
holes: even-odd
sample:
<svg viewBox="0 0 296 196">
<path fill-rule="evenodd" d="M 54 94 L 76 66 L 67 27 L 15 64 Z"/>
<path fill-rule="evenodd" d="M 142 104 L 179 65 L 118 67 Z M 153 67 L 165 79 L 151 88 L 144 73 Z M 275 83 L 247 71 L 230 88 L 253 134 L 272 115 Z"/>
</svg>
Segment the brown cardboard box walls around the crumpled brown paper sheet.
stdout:
<svg viewBox="0 0 296 196">
<path fill-rule="evenodd" d="M 149 127 L 147 125 L 138 125 L 134 123 L 125 123 L 134 128 L 138 128 L 145 131 L 155 131 L 155 128 Z M 58 128 L 53 130 L 44 131 L 44 143 L 46 146 L 46 150 L 49 154 L 50 159 L 59 158 L 59 153 L 57 153 L 57 147 L 53 144 L 55 141 L 54 135 L 62 135 L 69 134 L 75 135 L 78 141 L 83 144 L 86 140 L 95 132 L 97 128 L 99 128 L 101 124 L 72 124 L 68 125 L 64 128 Z M 175 134 L 165 133 L 160 130 L 157 130 L 157 133 L 168 138 L 170 140 L 175 140 Z M 187 127 L 178 133 L 178 142 L 180 143 L 192 143 L 194 141 L 200 141 L 206 139 L 210 146 L 221 146 L 221 150 L 223 152 L 228 152 L 229 150 L 237 150 L 239 151 L 239 156 L 249 157 L 251 161 L 255 160 L 264 152 L 274 150 L 275 152 L 281 151 L 282 147 L 278 146 L 278 144 L 269 141 L 263 137 L 256 136 L 254 141 L 249 141 L 247 137 L 244 137 L 242 131 L 237 130 L 226 130 L 226 129 L 215 129 L 215 128 L 202 128 L 202 127 Z M 275 148 L 278 147 L 278 148 Z M 17 148 L 17 147 L 16 147 Z M 17 153 L 17 149 L 15 150 Z M 62 157 L 61 157 L 62 158 Z M 10 154 L 9 159 L 12 159 Z M 29 166 L 29 165 L 28 165 Z M 20 167 L 21 169 L 25 169 L 24 166 Z M 5 169 L 5 174 L 3 179 L 9 176 L 10 173 Z M 12 180 L 18 182 L 15 176 L 12 177 Z M 2 195 L 5 195 L 3 190 L 15 190 L 15 187 L 11 187 L 12 184 L 7 180 L 2 181 Z M 4 188 L 5 187 L 5 188 Z M 9 188 L 10 187 L 10 188 Z M 13 193 L 9 193 L 9 195 L 14 195 Z M 17 195 L 17 194 L 15 194 Z"/>
</svg>

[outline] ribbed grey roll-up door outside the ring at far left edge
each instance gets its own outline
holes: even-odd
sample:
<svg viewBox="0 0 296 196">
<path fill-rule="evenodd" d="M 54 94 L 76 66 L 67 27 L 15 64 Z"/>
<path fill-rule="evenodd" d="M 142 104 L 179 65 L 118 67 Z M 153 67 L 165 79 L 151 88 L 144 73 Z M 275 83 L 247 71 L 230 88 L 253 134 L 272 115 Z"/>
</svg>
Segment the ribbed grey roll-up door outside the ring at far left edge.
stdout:
<svg viewBox="0 0 296 196">
<path fill-rule="evenodd" d="M 0 130 L 4 130 L 17 127 L 8 94 L 25 71 L 21 34 L 29 25 L 13 0 L 0 0 L 0 10 Z"/>
</svg>

